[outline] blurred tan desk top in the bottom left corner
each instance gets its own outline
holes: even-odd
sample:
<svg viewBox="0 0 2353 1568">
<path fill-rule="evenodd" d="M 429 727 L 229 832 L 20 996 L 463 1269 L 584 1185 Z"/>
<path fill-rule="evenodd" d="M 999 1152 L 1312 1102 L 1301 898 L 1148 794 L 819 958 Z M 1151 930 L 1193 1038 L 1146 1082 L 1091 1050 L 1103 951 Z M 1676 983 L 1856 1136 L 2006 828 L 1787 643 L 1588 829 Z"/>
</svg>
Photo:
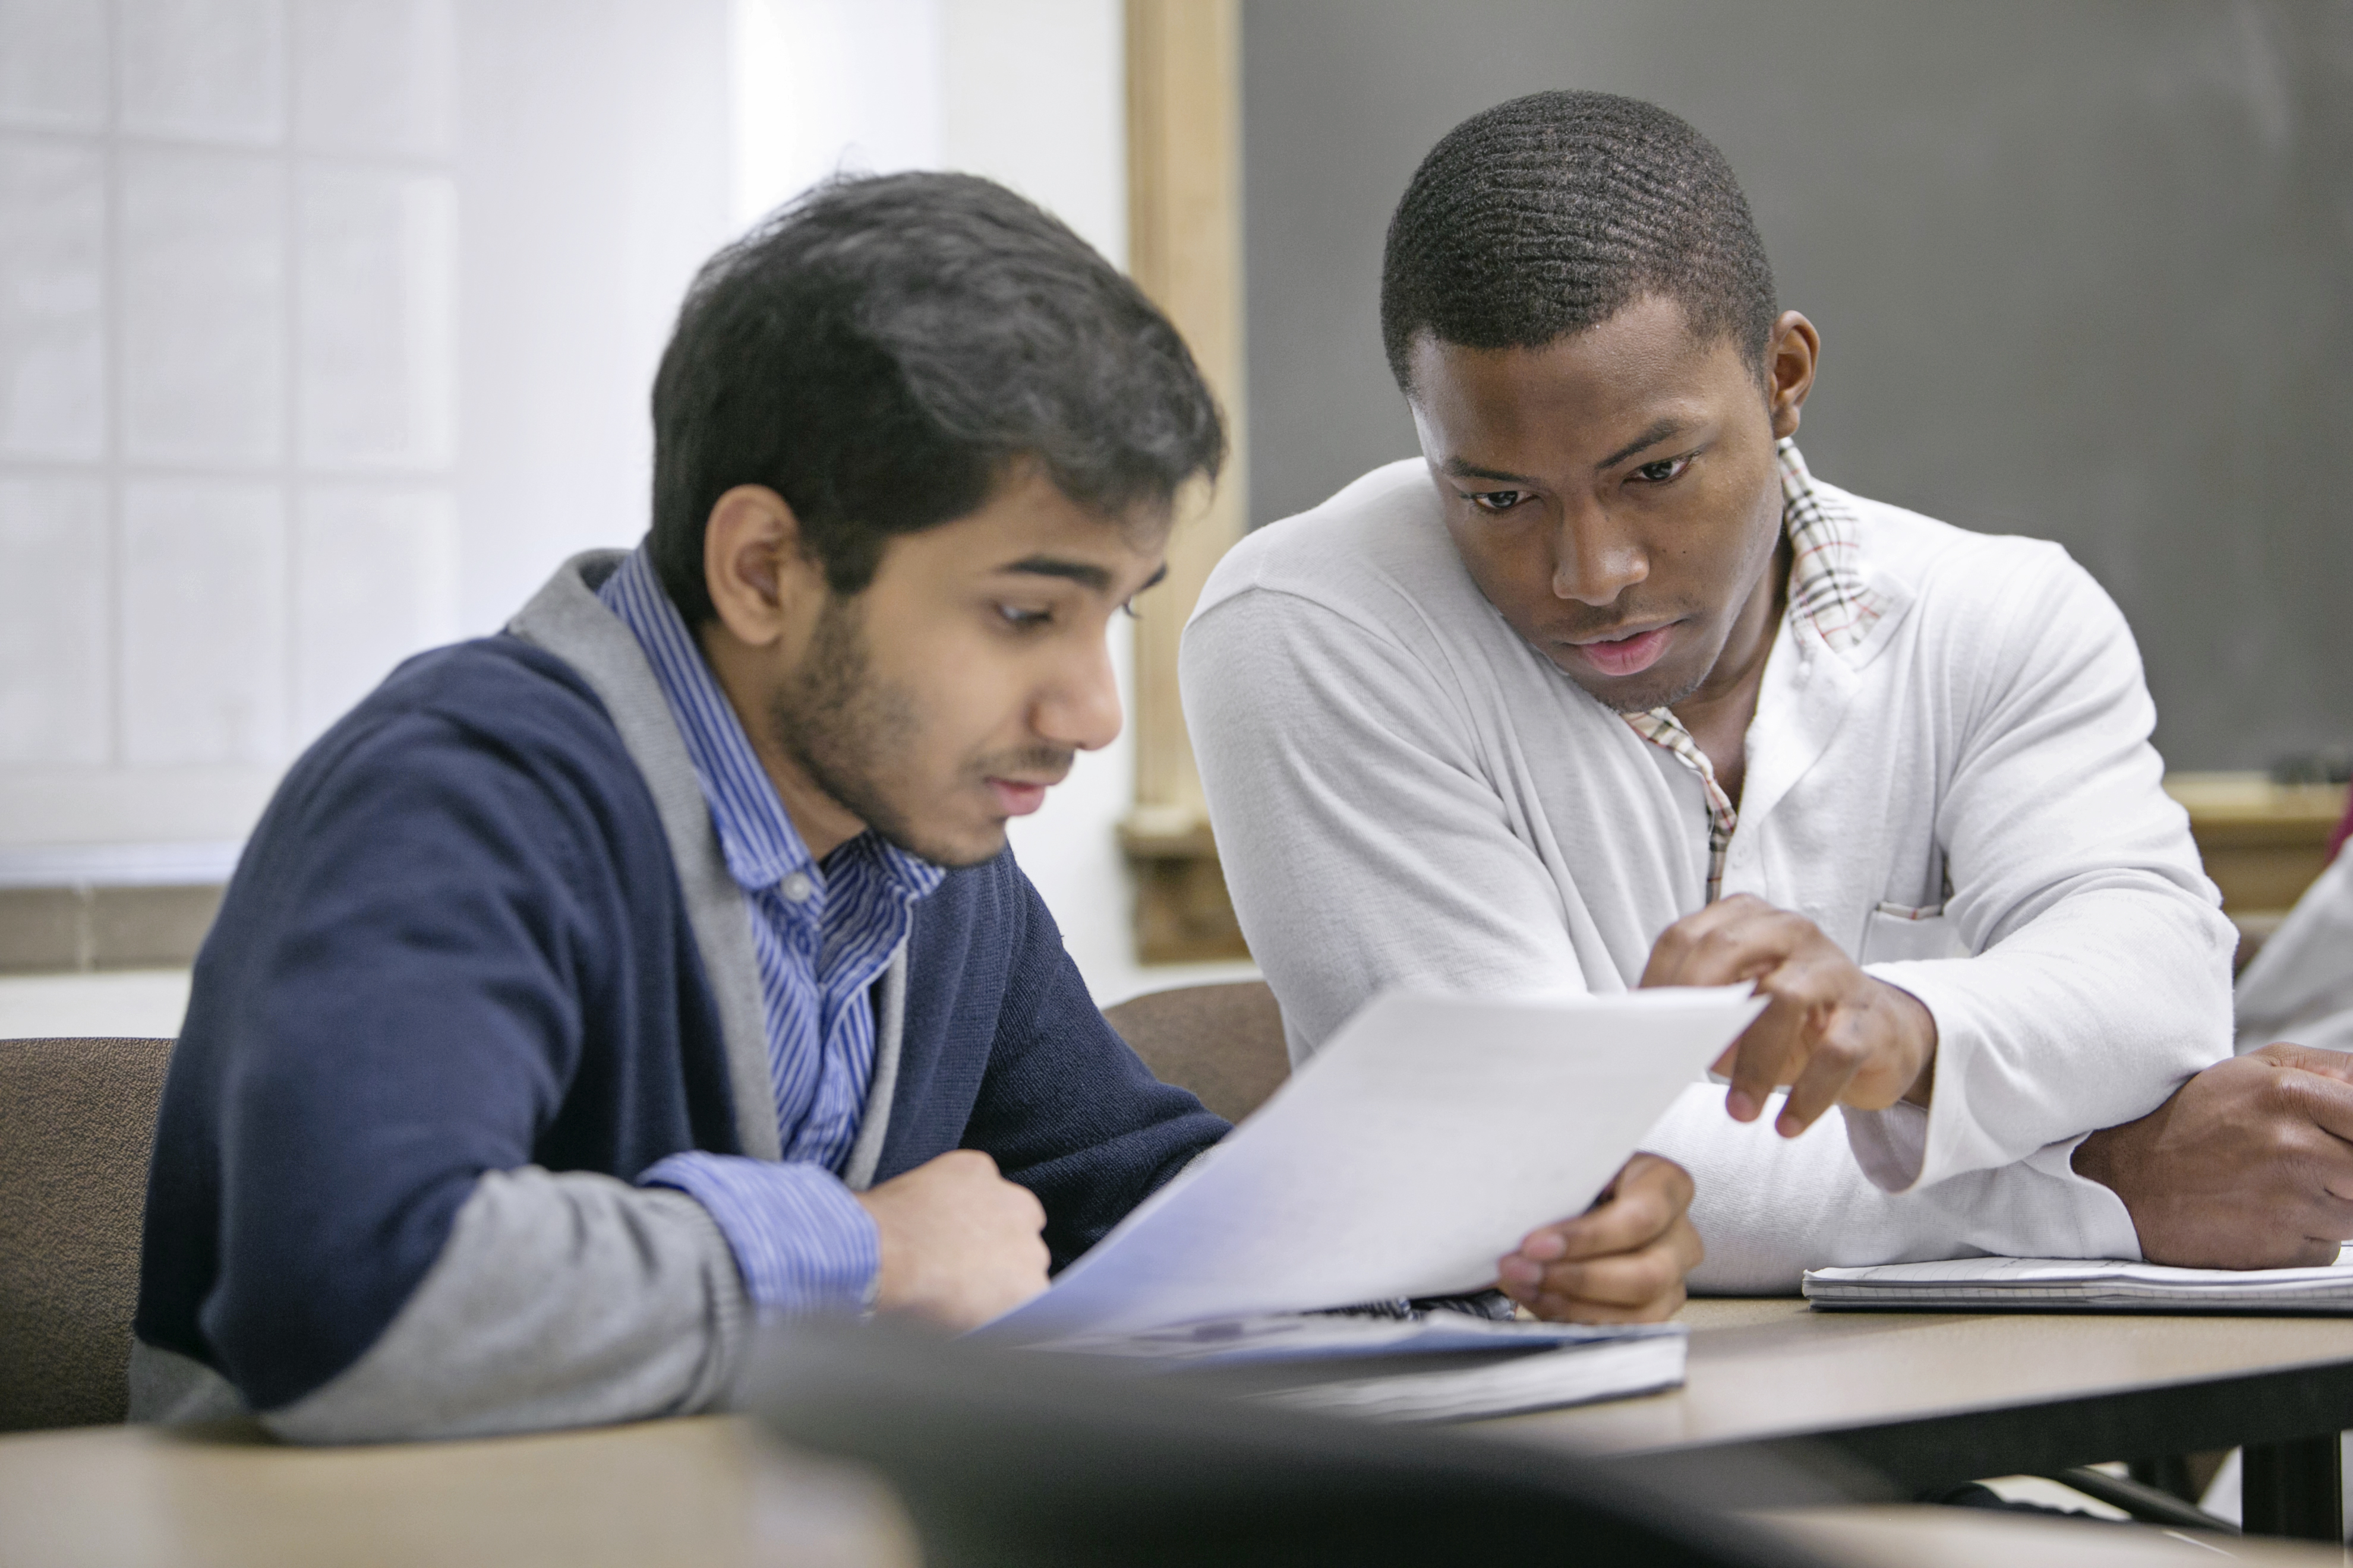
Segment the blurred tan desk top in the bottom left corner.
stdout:
<svg viewBox="0 0 2353 1568">
<path fill-rule="evenodd" d="M 381 1448 L 245 1427 L 0 1439 L 0 1568 L 915 1568 L 856 1472 L 689 1418 Z"/>
</svg>

